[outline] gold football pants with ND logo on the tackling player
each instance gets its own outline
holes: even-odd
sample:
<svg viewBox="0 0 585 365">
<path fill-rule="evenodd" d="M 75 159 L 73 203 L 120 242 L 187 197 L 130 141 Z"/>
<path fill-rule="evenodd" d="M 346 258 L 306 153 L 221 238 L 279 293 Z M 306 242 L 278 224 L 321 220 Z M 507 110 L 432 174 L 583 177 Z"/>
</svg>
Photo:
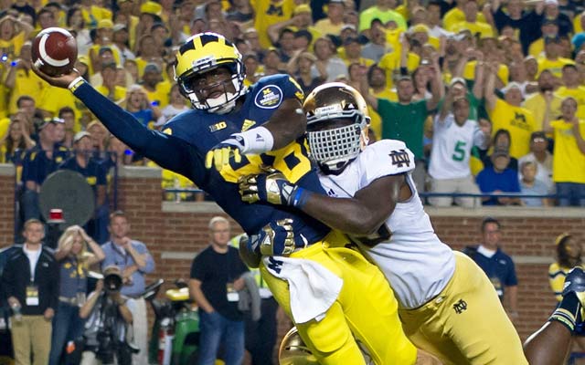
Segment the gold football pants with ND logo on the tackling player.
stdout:
<svg viewBox="0 0 585 365">
<path fill-rule="evenodd" d="M 445 365 L 528 364 L 522 343 L 484 271 L 456 252 L 455 273 L 438 297 L 400 309 L 412 342 Z"/>
</svg>

